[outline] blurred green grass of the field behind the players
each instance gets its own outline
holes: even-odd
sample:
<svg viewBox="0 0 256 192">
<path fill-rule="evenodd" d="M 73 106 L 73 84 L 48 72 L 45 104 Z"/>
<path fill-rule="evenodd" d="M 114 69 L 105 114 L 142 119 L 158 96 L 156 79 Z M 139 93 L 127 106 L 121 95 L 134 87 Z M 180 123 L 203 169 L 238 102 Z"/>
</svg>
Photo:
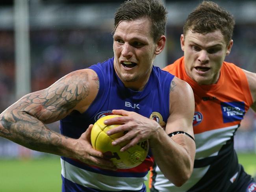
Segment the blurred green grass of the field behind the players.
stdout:
<svg viewBox="0 0 256 192">
<path fill-rule="evenodd" d="M 247 173 L 256 174 L 256 154 L 239 154 Z M 146 186 L 148 184 L 146 183 Z M 60 192 L 59 157 L 30 160 L 0 160 L 1 192 Z M 147 189 L 147 191 L 149 191 Z"/>
</svg>

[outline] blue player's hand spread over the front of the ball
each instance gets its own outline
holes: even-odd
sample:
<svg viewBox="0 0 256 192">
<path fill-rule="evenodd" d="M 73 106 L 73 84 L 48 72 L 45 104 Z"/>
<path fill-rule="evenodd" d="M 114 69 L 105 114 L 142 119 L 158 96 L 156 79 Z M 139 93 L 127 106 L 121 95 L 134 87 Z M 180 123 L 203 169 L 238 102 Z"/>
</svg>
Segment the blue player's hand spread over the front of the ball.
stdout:
<svg viewBox="0 0 256 192">
<path fill-rule="evenodd" d="M 113 110 L 112 112 L 113 114 L 119 114 L 122 116 L 105 120 L 104 124 L 120 124 L 120 126 L 109 130 L 107 134 L 113 135 L 119 132 L 127 132 L 124 136 L 113 141 L 112 144 L 117 145 L 122 142 L 130 141 L 121 149 L 121 151 L 125 151 L 128 148 L 135 146 L 138 142 L 157 137 L 159 129 L 162 129 L 162 127 L 156 121 L 138 113 L 125 111 L 122 109 Z"/>
</svg>

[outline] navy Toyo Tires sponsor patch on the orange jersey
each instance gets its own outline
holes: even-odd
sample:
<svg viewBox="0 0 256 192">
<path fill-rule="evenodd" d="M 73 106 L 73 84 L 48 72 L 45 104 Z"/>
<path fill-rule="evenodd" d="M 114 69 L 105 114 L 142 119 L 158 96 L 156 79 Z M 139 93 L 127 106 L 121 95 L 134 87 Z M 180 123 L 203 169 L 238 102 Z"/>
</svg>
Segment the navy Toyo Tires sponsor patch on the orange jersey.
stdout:
<svg viewBox="0 0 256 192">
<path fill-rule="evenodd" d="M 223 122 L 240 121 L 245 115 L 244 102 L 221 102 Z"/>
</svg>

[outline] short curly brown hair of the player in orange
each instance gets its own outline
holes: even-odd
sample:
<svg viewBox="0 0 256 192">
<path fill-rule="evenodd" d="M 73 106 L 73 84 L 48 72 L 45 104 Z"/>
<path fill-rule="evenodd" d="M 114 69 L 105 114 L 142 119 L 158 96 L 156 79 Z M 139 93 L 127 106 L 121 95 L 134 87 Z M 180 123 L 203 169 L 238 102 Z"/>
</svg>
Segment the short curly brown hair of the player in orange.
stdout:
<svg viewBox="0 0 256 192">
<path fill-rule="evenodd" d="M 224 8 L 211 1 L 203 1 L 189 14 L 183 27 L 184 36 L 191 30 L 196 33 L 209 33 L 220 30 L 226 44 L 232 39 L 235 20 Z"/>
</svg>

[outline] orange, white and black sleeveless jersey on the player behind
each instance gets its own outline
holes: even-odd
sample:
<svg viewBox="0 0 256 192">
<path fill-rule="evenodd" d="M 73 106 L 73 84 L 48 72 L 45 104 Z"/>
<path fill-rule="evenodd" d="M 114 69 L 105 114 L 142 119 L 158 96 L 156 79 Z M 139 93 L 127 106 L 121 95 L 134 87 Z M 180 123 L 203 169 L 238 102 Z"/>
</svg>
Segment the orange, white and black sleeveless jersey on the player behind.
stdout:
<svg viewBox="0 0 256 192">
<path fill-rule="evenodd" d="M 252 105 L 245 73 L 233 63 L 223 62 L 216 84 L 198 85 L 186 74 L 184 57 L 163 70 L 183 79 L 193 89 L 193 130 L 197 149 L 191 178 L 181 187 L 165 179 L 154 165 L 150 179 L 152 191 L 228 191 L 241 170 L 234 150 L 234 134 Z"/>
</svg>

